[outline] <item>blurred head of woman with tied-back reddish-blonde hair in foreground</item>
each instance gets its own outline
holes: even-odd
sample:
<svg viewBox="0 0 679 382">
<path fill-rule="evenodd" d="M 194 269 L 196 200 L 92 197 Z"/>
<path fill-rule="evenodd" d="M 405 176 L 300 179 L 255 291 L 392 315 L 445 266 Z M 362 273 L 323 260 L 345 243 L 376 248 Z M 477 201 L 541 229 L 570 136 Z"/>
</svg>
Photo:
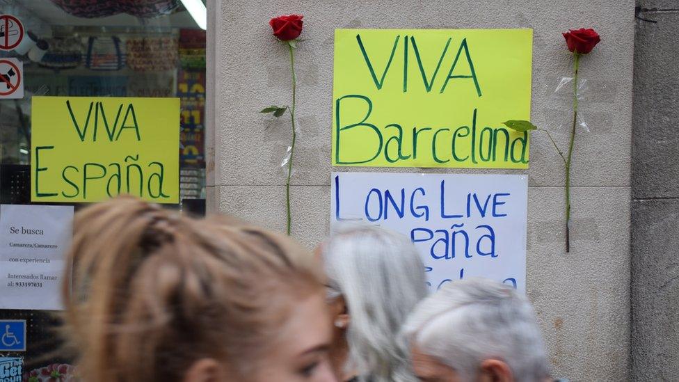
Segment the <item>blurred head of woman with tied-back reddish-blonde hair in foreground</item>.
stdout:
<svg viewBox="0 0 679 382">
<path fill-rule="evenodd" d="M 334 382 L 320 262 L 136 198 L 77 214 L 65 331 L 85 381 Z"/>
</svg>

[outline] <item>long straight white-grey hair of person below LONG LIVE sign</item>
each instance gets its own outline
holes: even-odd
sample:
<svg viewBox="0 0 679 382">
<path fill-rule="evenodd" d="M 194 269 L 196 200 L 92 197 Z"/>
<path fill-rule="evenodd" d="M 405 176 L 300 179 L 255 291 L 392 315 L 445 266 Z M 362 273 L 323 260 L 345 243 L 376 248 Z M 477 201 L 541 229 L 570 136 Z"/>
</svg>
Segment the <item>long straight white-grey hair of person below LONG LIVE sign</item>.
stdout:
<svg viewBox="0 0 679 382">
<path fill-rule="evenodd" d="M 349 363 L 371 381 L 417 381 L 401 327 L 427 294 L 424 264 L 404 235 L 372 225 L 340 226 L 322 247 L 328 297 L 351 317 Z"/>
</svg>

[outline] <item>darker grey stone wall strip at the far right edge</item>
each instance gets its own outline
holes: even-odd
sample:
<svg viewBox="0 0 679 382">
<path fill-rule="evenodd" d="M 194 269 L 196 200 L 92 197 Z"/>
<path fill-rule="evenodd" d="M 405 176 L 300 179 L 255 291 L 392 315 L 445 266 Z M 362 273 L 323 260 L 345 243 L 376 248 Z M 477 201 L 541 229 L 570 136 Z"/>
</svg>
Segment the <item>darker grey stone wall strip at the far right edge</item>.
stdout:
<svg viewBox="0 0 679 382">
<path fill-rule="evenodd" d="M 679 3 L 637 1 L 632 122 L 635 381 L 679 381 Z"/>
</svg>

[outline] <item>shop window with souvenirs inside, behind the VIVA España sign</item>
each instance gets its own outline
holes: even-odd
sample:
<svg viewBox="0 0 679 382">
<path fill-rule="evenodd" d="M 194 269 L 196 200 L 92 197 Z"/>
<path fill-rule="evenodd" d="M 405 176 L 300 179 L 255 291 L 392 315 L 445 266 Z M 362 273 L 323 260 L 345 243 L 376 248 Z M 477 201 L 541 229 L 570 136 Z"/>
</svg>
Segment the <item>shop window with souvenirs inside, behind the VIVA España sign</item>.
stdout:
<svg viewBox="0 0 679 382">
<path fill-rule="evenodd" d="M 24 97 L 3 98 L 16 73 L 0 70 L 9 80 L 0 81 L 1 204 L 31 204 L 31 97 L 179 97 L 180 202 L 168 207 L 205 214 L 205 20 L 188 2 L 0 0 L 0 15 L 23 26 L 0 19 L 0 47 L 5 34 L 24 34 L 0 49 L 0 59 L 23 63 L 24 84 Z M 26 320 L 26 351 L 0 351 L 24 357 L 25 372 L 72 361 L 60 350 L 54 312 L 0 309 L 1 319 Z"/>
</svg>

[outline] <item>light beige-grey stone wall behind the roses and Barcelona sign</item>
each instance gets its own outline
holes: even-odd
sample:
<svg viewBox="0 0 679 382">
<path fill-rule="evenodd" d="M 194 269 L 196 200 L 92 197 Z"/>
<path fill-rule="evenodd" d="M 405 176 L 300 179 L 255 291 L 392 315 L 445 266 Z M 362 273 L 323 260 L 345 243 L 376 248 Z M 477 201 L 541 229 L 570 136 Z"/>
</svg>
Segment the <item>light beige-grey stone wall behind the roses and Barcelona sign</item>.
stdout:
<svg viewBox="0 0 679 382">
<path fill-rule="evenodd" d="M 575 148 L 570 254 L 564 253 L 564 169 L 545 136 L 534 134 L 530 169 L 514 173 L 529 175 L 527 291 L 554 374 L 573 381 L 629 379 L 633 1 L 217 0 L 213 10 L 216 88 L 209 206 L 275 230 L 285 225 L 280 161 L 290 127 L 287 120 L 274 121 L 257 111 L 271 102 L 288 102 L 290 80 L 287 52 L 271 38 L 268 21 L 282 13 L 305 16 L 305 42 L 297 54 L 301 136 L 292 205 L 294 236 L 308 246 L 329 228 L 335 28 L 532 28 L 532 116 L 550 126 L 565 125 L 570 118 L 568 102 L 561 106 L 551 97 L 559 79 L 571 72 L 561 32 L 596 28 L 603 41 L 581 65 L 591 80 L 583 103 L 591 132 L 580 132 Z M 553 131 L 564 147 L 566 127 Z"/>
</svg>

